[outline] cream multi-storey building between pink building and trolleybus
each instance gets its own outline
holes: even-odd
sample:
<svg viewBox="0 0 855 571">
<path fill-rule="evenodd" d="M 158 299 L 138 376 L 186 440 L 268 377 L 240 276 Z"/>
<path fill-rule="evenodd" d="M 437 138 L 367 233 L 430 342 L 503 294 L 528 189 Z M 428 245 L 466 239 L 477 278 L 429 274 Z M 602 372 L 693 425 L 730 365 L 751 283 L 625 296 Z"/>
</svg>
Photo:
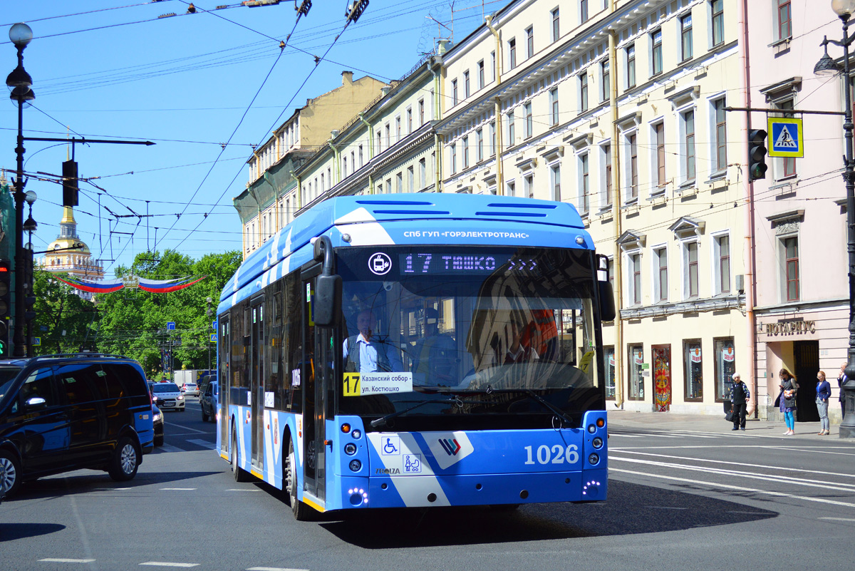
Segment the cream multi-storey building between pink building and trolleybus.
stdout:
<svg viewBox="0 0 855 571">
<path fill-rule="evenodd" d="M 445 191 L 576 205 L 611 258 L 625 409 L 721 412 L 751 376 L 738 5 L 521 0 L 443 57 Z"/>
</svg>

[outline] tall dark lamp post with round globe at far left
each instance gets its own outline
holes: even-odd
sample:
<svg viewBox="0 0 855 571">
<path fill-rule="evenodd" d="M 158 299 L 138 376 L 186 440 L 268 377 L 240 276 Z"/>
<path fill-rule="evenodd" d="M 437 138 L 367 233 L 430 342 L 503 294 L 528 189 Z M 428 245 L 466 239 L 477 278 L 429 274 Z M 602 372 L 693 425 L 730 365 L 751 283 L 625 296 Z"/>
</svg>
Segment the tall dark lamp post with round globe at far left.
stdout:
<svg viewBox="0 0 855 571">
<path fill-rule="evenodd" d="M 18 67 L 6 78 L 6 85 L 12 90 L 9 96 L 18 103 L 18 145 L 15 153 L 18 156 L 17 178 L 15 179 L 15 327 L 12 331 L 13 356 L 25 356 L 27 344 L 24 343 L 24 103 L 32 101 L 32 78 L 24 70 L 24 48 L 32 39 L 32 29 L 24 23 L 18 23 L 9 28 L 9 39 L 18 50 Z"/>
</svg>

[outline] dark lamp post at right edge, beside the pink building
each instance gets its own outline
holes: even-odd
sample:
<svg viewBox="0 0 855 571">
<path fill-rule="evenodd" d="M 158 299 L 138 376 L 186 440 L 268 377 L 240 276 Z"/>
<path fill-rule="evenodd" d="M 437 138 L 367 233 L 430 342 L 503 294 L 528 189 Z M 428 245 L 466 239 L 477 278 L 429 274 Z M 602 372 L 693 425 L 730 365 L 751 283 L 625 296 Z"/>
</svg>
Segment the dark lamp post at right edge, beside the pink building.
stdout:
<svg viewBox="0 0 855 571">
<path fill-rule="evenodd" d="M 843 48 L 844 121 L 843 136 L 846 139 L 843 180 L 846 181 L 846 250 L 849 256 L 849 350 L 846 365 L 846 382 L 840 387 L 849 414 L 840 424 L 840 438 L 855 438 L 855 162 L 852 157 L 852 93 L 849 80 L 849 44 L 855 36 L 849 36 L 849 19 L 855 14 L 855 0 L 832 0 L 831 9 L 843 22 L 843 40 L 823 38 L 825 54 L 813 71 L 817 75 L 838 74 L 840 66 L 828 56 L 828 44 Z"/>
</svg>

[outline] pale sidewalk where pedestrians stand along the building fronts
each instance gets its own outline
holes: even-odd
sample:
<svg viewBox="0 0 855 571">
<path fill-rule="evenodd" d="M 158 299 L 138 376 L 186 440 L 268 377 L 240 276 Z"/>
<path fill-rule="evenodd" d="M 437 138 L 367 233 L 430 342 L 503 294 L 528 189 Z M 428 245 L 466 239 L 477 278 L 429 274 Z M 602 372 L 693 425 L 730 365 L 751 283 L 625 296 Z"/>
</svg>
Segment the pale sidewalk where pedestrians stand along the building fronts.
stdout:
<svg viewBox="0 0 855 571">
<path fill-rule="evenodd" d="M 676 415 L 670 412 L 635 412 L 634 410 L 607 410 L 609 424 L 616 427 L 641 428 L 647 430 L 694 430 L 709 433 L 729 433 L 734 427 L 722 415 Z M 783 421 L 746 420 L 745 433 L 761 433 L 764 436 L 780 436 L 781 439 L 810 438 L 823 442 L 851 442 L 855 439 L 840 439 L 839 425 L 831 425 L 831 434 L 819 436 L 819 422 L 796 422 L 795 437 L 785 437 L 787 426 Z"/>
</svg>

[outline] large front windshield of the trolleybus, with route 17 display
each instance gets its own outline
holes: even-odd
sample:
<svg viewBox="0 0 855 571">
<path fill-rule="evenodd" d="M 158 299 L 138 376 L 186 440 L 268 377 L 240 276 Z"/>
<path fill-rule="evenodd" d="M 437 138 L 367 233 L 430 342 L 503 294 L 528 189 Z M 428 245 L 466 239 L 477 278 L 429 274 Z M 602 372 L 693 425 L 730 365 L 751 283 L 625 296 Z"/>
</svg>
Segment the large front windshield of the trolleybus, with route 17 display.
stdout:
<svg viewBox="0 0 855 571">
<path fill-rule="evenodd" d="M 394 418 L 398 427 L 462 415 L 514 416 L 516 426 L 548 426 L 558 415 L 567 426 L 604 408 L 592 252 L 387 246 L 339 250 L 337 263 L 339 413 Z M 357 370 L 366 333 L 377 356 Z"/>
</svg>

